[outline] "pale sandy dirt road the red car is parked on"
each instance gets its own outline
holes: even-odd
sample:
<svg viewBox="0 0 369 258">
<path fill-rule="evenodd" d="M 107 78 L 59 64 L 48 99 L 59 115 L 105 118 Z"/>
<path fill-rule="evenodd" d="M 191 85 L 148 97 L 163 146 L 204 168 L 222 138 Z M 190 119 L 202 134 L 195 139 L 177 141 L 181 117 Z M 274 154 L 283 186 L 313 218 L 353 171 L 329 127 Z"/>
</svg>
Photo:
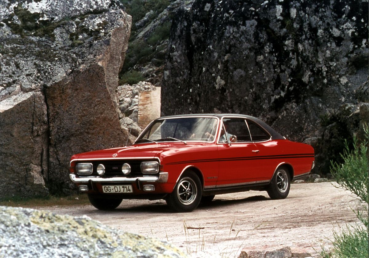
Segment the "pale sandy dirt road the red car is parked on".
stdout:
<svg viewBox="0 0 369 258">
<path fill-rule="evenodd" d="M 266 192 L 217 195 L 191 213 L 172 213 L 165 201 L 123 200 L 113 211 L 93 206 L 48 207 L 57 214 L 87 215 L 120 230 L 169 241 L 190 257 L 238 257 L 244 251 L 290 247 L 317 257 L 331 247 L 332 230 L 358 222 L 356 199 L 331 182 L 292 184 L 284 200 Z"/>
</svg>

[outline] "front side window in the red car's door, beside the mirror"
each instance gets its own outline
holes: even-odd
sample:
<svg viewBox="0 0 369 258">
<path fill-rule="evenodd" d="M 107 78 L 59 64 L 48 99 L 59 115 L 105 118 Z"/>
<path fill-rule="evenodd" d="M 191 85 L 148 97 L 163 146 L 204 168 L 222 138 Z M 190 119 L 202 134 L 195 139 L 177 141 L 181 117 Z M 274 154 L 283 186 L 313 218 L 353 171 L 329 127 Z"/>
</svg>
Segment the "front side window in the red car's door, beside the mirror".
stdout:
<svg viewBox="0 0 369 258">
<path fill-rule="evenodd" d="M 225 118 L 223 119 L 227 137 L 232 135 L 237 137 L 237 142 L 251 142 L 249 130 L 246 125 L 245 119 L 242 118 Z M 225 138 L 221 135 L 220 142 Z M 223 139 L 225 142 L 225 139 Z"/>
</svg>

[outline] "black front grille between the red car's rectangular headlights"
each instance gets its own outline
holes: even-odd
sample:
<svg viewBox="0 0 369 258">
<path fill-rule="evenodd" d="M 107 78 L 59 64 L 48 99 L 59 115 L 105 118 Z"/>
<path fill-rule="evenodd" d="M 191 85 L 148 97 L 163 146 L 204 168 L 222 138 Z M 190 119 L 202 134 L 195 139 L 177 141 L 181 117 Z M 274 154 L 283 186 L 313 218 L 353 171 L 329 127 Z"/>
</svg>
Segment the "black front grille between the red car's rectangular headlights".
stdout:
<svg viewBox="0 0 369 258">
<path fill-rule="evenodd" d="M 105 167 L 105 174 L 101 177 L 125 177 L 122 173 L 122 165 L 128 163 L 131 166 L 131 173 L 126 177 L 142 177 L 141 162 L 142 161 L 157 161 L 157 160 L 106 160 L 106 161 L 92 161 L 93 172 L 92 175 L 98 176 L 96 172 L 97 165 L 103 164 Z"/>
</svg>

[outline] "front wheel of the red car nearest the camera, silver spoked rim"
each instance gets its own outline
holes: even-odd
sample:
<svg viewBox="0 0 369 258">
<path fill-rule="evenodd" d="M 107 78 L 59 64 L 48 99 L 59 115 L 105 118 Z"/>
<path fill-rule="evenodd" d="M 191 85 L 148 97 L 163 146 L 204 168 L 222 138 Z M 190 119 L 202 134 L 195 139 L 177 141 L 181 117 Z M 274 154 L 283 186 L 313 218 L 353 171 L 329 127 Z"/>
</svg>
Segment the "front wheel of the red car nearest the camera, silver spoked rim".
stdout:
<svg viewBox="0 0 369 258">
<path fill-rule="evenodd" d="M 165 201 L 176 212 L 192 212 L 199 206 L 201 194 L 199 177 L 193 171 L 186 171 Z"/>
</svg>

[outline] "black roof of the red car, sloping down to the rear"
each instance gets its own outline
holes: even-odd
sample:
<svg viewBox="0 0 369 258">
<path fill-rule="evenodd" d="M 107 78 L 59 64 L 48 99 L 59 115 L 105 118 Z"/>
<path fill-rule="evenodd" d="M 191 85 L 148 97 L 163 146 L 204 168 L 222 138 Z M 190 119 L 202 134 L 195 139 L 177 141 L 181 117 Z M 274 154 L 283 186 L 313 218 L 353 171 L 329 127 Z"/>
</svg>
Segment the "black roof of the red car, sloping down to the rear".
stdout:
<svg viewBox="0 0 369 258">
<path fill-rule="evenodd" d="M 162 117 L 160 117 L 158 119 L 177 118 L 177 117 L 196 117 L 196 116 L 200 116 L 200 117 L 201 116 L 214 116 L 214 117 L 217 117 L 219 119 L 221 119 L 223 117 L 227 117 L 227 116 L 239 117 L 239 118 L 247 118 L 247 119 L 250 119 L 251 121 L 257 123 L 262 128 L 264 128 L 270 134 L 270 136 L 272 136 L 272 139 L 273 140 L 276 140 L 276 139 L 285 139 L 282 135 L 280 135 L 278 132 L 276 132 L 276 130 L 274 130 L 273 128 L 271 128 L 269 125 L 267 125 L 261 119 L 256 118 L 254 116 L 249 116 L 249 115 L 242 115 L 242 114 L 186 114 L 186 115 L 162 116 Z"/>
</svg>

